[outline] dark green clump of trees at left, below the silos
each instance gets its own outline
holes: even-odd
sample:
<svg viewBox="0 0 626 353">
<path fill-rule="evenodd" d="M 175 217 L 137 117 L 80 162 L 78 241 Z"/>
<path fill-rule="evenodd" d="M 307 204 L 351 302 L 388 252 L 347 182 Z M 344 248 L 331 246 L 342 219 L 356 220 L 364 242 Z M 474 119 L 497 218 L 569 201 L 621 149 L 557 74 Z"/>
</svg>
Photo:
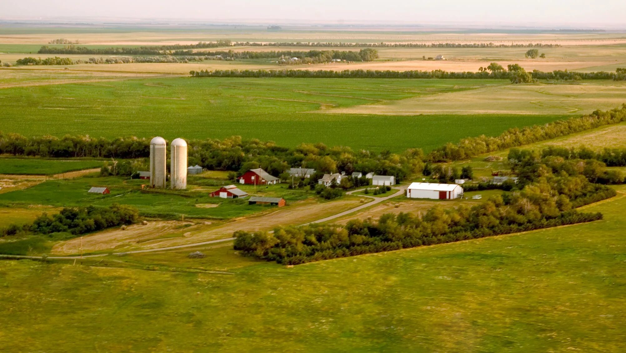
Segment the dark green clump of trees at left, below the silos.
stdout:
<svg viewBox="0 0 626 353">
<path fill-rule="evenodd" d="M 0 235 L 13 236 L 25 232 L 49 235 L 66 232 L 78 236 L 121 224 L 133 224 L 138 217 L 139 211 L 134 207 L 118 204 L 108 207 L 64 207 L 54 216 L 42 214 L 32 224 L 25 226 L 13 224 L 6 227 L 0 231 Z"/>
</svg>

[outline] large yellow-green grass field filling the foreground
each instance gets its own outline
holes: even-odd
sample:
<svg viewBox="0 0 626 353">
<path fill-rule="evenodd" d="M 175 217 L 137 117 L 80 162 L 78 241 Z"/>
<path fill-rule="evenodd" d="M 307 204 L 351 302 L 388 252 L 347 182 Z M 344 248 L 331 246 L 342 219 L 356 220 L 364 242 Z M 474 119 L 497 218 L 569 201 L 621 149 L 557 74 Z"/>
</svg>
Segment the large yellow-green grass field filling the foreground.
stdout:
<svg viewBox="0 0 626 353">
<path fill-rule="evenodd" d="M 1 261 L 0 340 L 47 352 L 623 351 L 623 191 L 585 207 L 603 221 L 293 268 L 228 246 L 193 249 L 204 259 Z"/>
</svg>

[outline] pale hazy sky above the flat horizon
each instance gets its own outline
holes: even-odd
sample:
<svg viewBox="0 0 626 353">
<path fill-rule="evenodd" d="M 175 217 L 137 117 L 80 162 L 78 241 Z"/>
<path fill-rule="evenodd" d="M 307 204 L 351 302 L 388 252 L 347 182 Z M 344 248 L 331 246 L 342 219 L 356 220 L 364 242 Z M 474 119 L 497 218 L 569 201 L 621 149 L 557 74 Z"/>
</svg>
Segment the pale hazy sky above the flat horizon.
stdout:
<svg viewBox="0 0 626 353">
<path fill-rule="evenodd" d="M 0 17 L 624 24 L 626 0 L 0 0 Z M 624 24 L 626 27 L 626 24 Z"/>
</svg>

